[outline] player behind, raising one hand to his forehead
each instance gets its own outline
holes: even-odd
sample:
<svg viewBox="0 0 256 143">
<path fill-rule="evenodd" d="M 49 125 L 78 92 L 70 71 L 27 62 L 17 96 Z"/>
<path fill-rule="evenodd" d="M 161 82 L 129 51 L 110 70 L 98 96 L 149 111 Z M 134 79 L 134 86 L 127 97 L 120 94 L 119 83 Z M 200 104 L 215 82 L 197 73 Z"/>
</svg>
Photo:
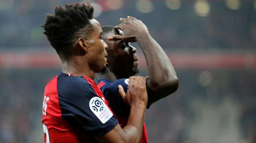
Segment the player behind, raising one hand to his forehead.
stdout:
<svg viewBox="0 0 256 143">
<path fill-rule="evenodd" d="M 98 86 L 108 100 L 119 124 L 125 126 L 132 113 L 118 95 L 118 85 L 127 91 L 130 76 L 139 72 L 136 48 L 130 42 L 138 42 L 148 64 L 149 78 L 146 84 L 148 107 L 157 100 L 174 93 L 178 88 L 178 78 L 169 58 L 150 36 L 147 27 L 134 17 L 121 18 L 116 27 L 103 26 L 103 40 L 108 45 L 107 70 L 98 75 Z M 148 137 L 143 126 L 141 143 L 147 143 Z"/>
</svg>

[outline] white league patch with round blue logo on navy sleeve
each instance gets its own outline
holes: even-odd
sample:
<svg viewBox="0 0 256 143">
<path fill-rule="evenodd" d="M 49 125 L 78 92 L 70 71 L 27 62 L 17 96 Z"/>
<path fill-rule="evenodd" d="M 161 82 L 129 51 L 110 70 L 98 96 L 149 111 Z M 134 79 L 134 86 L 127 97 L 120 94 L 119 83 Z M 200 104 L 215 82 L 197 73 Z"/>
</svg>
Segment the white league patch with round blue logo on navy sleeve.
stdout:
<svg viewBox="0 0 256 143">
<path fill-rule="evenodd" d="M 103 124 L 105 124 L 113 116 L 110 109 L 100 97 L 93 97 L 89 104 L 93 114 L 95 114 Z"/>
</svg>

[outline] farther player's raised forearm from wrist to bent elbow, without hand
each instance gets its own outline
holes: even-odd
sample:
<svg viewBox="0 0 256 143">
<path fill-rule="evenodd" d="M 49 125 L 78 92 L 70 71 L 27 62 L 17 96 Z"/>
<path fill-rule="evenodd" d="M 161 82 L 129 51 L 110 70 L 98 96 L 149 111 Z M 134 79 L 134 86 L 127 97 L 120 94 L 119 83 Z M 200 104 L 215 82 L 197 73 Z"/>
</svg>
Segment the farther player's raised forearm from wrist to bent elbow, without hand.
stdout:
<svg viewBox="0 0 256 143">
<path fill-rule="evenodd" d="M 139 36 L 137 42 L 143 50 L 148 65 L 150 77 L 147 82 L 148 89 L 151 90 L 149 90 L 151 93 L 156 93 L 156 96 L 158 96 L 151 98 L 152 94 L 148 92 L 149 103 L 153 103 L 176 91 L 178 88 L 178 78 L 171 61 L 150 34 Z M 161 94 L 159 94 L 160 92 Z"/>
</svg>

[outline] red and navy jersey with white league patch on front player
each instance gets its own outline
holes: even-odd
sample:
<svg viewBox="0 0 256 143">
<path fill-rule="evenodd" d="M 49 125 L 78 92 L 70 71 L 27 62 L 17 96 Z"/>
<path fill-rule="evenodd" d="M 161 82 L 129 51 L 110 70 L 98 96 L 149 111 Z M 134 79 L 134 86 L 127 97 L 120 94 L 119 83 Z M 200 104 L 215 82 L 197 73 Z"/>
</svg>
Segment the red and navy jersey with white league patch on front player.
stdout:
<svg viewBox="0 0 256 143">
<path fill-rule="evenodd" d="M 93 80 L 64 73 L 45 88 L 41 121 L 45 143 L 98 143 L 118 124 Z"/>
</svg>

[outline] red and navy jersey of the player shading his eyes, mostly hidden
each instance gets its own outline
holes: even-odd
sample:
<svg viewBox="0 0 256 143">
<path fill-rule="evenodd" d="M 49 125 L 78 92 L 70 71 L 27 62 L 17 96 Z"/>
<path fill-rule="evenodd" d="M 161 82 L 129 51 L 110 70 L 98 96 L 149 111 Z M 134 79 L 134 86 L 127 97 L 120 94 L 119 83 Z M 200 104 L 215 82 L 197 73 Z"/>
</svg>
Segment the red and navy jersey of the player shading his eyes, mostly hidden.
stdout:
<svg viewBox="0 0 256 143">
<path fill-rule="evenodd" d="M 126 93 L 128 90 L 129 79 L 122 78 L 116 80 L 115 82 L 112 82 L 110 80 L 103 78 L 98 80 L 98 82 L 98 86 L 102 91 L 105 99 L 108 101 L 109 107 L 112 109 L 113 114 L 115 114 L 115 117 L 119 121 L 120 126 L 123 128 L 124 126 L 126 126 L 128 122 L 130 108 L 126 105 L 124 100 L 119 95 L 118 85 L 123 86 L 124 92 Z M 145 123 L 143 124 L 143 134 L 141 143 L 148 143 L 148 134 Z"/>
</svg>

